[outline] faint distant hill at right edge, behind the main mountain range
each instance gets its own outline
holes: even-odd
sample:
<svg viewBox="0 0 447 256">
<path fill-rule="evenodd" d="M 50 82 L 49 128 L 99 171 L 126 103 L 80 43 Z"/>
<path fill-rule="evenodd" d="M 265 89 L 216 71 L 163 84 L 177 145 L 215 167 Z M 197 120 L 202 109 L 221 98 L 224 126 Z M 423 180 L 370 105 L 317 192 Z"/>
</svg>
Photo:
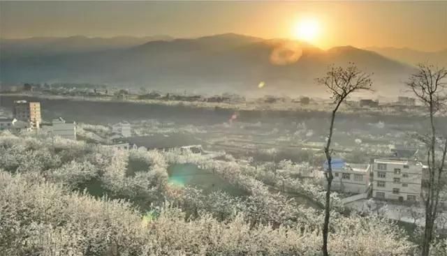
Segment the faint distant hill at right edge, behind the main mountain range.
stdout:
<svg viewBox="0 0 447 256">
<path fill-rule="evenodd" d="M 447 67 L 447 48 L 438 52 L 422 52 L 410 48 L 369 47 L 366 50 L 377 52 L 390 59 L 395 59 L 410 65 L 417 63 L 432 63 Z"/>
</svg>

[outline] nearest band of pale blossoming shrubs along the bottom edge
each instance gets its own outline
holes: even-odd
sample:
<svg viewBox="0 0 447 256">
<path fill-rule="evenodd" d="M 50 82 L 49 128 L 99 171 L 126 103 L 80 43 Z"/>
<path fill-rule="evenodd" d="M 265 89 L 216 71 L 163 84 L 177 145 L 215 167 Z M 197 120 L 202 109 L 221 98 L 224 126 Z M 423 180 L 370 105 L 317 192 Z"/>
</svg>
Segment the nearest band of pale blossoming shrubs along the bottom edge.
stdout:
<svg viewBox="0 0 447 256">
<path fill-rule="evenodd" d="M 185 221 L 169 204 L 157 218 L 127 202 L 71 193 L 37 173 L 0 172 L 3 255 L 318 255 L 318 229 L 247 223 L 247 213 L 221 222 L 204 213 Z M 332 255 L 406 255 L 413 246 L 379 218 L 340 218 Z M 354 247 L 353 247 L 354 246 Z"/>
</svg>

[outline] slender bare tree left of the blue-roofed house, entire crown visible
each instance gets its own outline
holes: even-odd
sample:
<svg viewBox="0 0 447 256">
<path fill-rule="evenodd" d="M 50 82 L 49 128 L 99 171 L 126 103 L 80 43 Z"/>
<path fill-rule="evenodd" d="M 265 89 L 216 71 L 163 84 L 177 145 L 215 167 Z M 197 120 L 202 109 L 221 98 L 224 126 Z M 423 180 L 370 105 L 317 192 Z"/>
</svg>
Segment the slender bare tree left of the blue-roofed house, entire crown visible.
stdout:
<svg viewBox="0 0 447 256">
<path fill-rule="evenodd" d="M 356 91 L 371 90 L 372 79 L 371 75 L 362 72 L 353 63 L 349 63 L 346 68 L 331 66 L 325 77 L 317 78 L 318 84 L 326 86 L 328 92 L 331 93 L 331 98 L 335 104 L 332 110 L 330 119 L 328 142 L 324 148 L 326 160 L 328 161 L 328 170 L 325 172 L 325 179 L 328 181 L 328 188 L 325 195 L 325 216 L 323 223 L 323 255 L 328 256 L 328 232 L 329 232 L 329 218 L 330 218 L 330 193 L 332 180 L 332 149 L 330 143 L 332 141 L 332 133 L 334 130 L 335 114 L 340 105 L 348 98 L 348 96 Z"/>
</svg>

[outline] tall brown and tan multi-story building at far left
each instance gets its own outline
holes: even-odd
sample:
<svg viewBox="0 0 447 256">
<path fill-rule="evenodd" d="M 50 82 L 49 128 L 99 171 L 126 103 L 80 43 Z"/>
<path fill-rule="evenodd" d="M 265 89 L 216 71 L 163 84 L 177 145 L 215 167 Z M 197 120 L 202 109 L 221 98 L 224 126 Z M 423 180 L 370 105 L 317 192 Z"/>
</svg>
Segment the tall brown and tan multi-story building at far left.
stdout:
<svg viewBox="0 0 447 256">
<path fill-rule="evenodd" d="M 29 122 L 33 128 L 39 128 L 41 116 L 41 103 L 29 103 L 27 100 L 14 101 L 14 118 L 20 121 Z"/>
</svg>

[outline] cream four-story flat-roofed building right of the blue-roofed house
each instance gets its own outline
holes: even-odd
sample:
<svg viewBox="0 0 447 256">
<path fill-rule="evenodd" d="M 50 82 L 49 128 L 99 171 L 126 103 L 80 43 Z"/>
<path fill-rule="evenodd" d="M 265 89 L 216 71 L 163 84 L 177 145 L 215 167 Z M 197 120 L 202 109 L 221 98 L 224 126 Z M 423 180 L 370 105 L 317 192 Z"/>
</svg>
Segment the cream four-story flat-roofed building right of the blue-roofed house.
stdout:
<svg viewBox="0 0 447 256">
<path fill-rule="evenodd" d="M 372 167 L 372 196 L 378 199 L 418 201 L 424 165 L 408 159 L 376 159 Z"/>
</svg>

